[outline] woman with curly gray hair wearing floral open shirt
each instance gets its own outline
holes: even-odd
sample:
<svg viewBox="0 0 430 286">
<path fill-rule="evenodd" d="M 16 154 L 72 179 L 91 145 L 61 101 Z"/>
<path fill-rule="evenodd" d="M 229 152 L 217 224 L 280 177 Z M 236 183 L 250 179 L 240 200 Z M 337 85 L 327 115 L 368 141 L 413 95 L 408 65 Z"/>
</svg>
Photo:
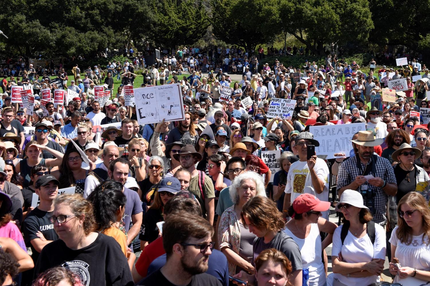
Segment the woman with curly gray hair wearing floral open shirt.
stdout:
<svg viewBox="0 0 430 286">
<path fill-rule="evenodd" d="M 218 228 L 219 250 L 227 257 L 230 275 L 237 274 L 240 270 L 254 273 L 251 262 L 255 235 L 244 227 L 240 216 L 243 205 L 254 196 L 266 196 L 260 175 L 245 172 L 234 178 L 230 186 L 230 197 L 234 205 L 221 215 Z"/>
</svg>

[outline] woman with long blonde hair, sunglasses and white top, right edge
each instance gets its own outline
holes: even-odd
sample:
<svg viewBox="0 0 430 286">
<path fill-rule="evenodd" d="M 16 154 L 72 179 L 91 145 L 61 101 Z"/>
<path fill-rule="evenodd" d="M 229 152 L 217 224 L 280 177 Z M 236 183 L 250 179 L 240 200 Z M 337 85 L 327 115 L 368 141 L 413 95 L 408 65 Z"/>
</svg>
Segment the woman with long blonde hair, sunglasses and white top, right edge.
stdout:
<svg viewBox="0 0 430 286">
<path fill-rule="evenodd" d="M 390 273 L 394 283 L 427 285 L 430 281 L 430 209 L 417 192 L 399 201 L 397 223 L 391 233 Z"/>
</svg>

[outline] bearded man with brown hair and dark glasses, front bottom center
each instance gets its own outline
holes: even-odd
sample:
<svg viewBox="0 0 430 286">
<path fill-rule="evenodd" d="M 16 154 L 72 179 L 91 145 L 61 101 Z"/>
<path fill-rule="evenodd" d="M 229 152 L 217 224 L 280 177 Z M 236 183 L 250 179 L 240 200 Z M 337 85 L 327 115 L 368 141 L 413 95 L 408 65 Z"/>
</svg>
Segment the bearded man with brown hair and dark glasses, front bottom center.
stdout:
<svg viewBox="0 0 430 286">
<path fill-rule="evenodd" d="M 184 220 L 185 216 L 186 220 Z M 203 273 L 209 268 L 209 255 L 215 244 L 212 242 L 213 233 L 212 225 L 200 216 L 189 213 L 167 216 L 163 225 L 166 264 L 141 281 L 139 285 L 221 286 L 218 279 Z"/>
</svg>

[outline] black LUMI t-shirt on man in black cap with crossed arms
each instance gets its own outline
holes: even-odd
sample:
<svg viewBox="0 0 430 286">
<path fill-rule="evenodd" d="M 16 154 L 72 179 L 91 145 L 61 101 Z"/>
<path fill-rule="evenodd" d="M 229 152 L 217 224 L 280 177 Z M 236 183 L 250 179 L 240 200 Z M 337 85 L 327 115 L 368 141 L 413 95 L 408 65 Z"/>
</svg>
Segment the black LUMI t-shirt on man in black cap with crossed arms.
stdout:
<svg viewBox="0 0 430 286">
<path fill-rule="evenodd" d="M 57 240 L 58 235 L 54 230 L 54 225 L 49 221 L 49 217 L 52 217 L 52 211 L 41 211 L 39 208 L 35 208 L 24 220 L 21 230 L 24 232 L 24 241 L 27 247 L 31 247 L 31 257 L 36 263 L 40 253 L 38 253 L 30 241 L 38 238 L 36 232 L 42 232 L 46 240 Z"/>
</svg>

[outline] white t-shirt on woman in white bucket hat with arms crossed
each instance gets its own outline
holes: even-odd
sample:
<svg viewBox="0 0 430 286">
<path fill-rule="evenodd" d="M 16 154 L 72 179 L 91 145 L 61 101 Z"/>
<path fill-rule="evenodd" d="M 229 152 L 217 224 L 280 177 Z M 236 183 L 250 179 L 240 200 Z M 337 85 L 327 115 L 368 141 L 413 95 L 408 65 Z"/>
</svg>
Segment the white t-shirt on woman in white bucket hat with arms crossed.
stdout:
<svg viewBox="0 0 430 286">
<path fill-rule="evenodd" d="M 348 263 L 370 262 L 373 259 L 385 259 L 386 241 L 385 230 L 382 226 L 375 223 L 375 244 L 373 245 L 369 235 L 356 238 L 350 231 L 348 231 L 344 240 L 344 245 L 342 245 L 342 227 L 343 225 L 336 228 L 333 234 L 332 257 L 339 256 L 339 253 L 342 253 L 343 261 Z M 335 273 L 335 278 L 345 285 L 364 286 L 378 281 L 377 275 L 358 278 Z"/>
</svg>

